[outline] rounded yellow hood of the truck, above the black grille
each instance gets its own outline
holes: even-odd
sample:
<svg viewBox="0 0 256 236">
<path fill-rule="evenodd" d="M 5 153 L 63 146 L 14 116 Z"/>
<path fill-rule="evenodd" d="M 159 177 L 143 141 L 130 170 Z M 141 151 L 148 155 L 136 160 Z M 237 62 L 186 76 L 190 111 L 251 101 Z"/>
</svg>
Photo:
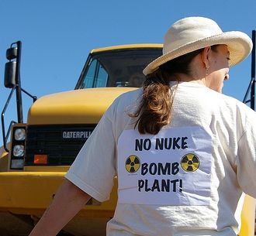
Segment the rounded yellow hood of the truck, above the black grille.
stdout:
<svg viewBox="0 0 256 236">
<path fill-rule="evenodd" d="M 29 109 L 28 125 L 97 124 L 120 94 L 132 87 L 101 87 L 50 94 Z"/>
</svg>

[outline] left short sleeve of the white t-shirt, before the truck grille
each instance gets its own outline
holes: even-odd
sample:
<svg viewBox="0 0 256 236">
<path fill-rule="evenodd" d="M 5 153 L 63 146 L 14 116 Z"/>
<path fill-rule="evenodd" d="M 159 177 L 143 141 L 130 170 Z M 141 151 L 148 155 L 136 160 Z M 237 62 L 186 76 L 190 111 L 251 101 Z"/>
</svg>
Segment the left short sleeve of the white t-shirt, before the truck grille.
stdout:
<svg viewBox="0 0 256 236">
<path fill-rule="evenodd" d="M 102 116 L 65 176 L 100 202 L 109 199 L 116 175 L 116 142 L 109 110 Z"/>
</svg>

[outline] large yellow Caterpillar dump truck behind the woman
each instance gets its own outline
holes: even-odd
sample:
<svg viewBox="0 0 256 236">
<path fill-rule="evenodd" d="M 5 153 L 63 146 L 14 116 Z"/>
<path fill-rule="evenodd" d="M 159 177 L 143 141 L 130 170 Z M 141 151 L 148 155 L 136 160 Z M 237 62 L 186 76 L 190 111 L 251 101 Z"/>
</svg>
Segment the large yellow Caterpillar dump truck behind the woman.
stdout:
<svg viewBox="0 0 256 236">
<path fill-rule="evenodd" d="M 143 84 L 143 68 L 161 50 L 161 44 L 92 50 L 73 91 L 36 99 L 20 86 L 21 42 L 12 44 L 6 53 L 9 62 L 5 67 L 5 87 L 12 91 L 2 112 L 0 234 L 27 234 L 54 198 L 64 174 L 104 111 L 119 94 Z M 15 91 L 18 122 L 12 122 L 5 132 L 4 115 Z M 22 91 L 34 101 L 26 123 L 22 118 Z M 115 183 L 110 200 L 90 200 L 64 231 L 72 235 L 104 235 L 116 200 Z M 240 235 L 249 236 L 254 231 L 254 200 L 246 197 L 244 202 Z"/>
</svg>

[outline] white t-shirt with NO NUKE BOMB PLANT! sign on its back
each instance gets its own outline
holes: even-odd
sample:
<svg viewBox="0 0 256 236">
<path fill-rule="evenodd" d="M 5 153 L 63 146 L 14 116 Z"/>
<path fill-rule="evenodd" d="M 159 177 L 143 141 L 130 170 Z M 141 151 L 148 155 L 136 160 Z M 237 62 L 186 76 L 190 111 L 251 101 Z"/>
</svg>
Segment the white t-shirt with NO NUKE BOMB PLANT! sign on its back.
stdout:
<svg viewBox="0 0 256 236">
<path fill-rule="evenodd" d="M 256 198 L 256 113 L 232 97 L 181 83 L 171 125 L 140 135 L 142 90 L 113 102 L 66 177 L 96 200 L 119 200 L 108 236 L 236 235 L 243 194 Z"/>
</svg>

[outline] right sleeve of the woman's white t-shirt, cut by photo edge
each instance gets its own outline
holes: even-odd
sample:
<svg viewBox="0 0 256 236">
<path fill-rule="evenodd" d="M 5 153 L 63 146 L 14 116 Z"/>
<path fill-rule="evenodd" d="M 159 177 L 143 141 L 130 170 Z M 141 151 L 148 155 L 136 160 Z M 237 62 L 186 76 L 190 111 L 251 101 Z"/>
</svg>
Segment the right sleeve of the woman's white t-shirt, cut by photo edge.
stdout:
<svg viewBox="0 0 256 236">
<path fill-rule="evenodd" d="M 252 110 L 238 140 L 237 180 L 244 193 L 256 198 L 256 113 Z"/>
</svg>

